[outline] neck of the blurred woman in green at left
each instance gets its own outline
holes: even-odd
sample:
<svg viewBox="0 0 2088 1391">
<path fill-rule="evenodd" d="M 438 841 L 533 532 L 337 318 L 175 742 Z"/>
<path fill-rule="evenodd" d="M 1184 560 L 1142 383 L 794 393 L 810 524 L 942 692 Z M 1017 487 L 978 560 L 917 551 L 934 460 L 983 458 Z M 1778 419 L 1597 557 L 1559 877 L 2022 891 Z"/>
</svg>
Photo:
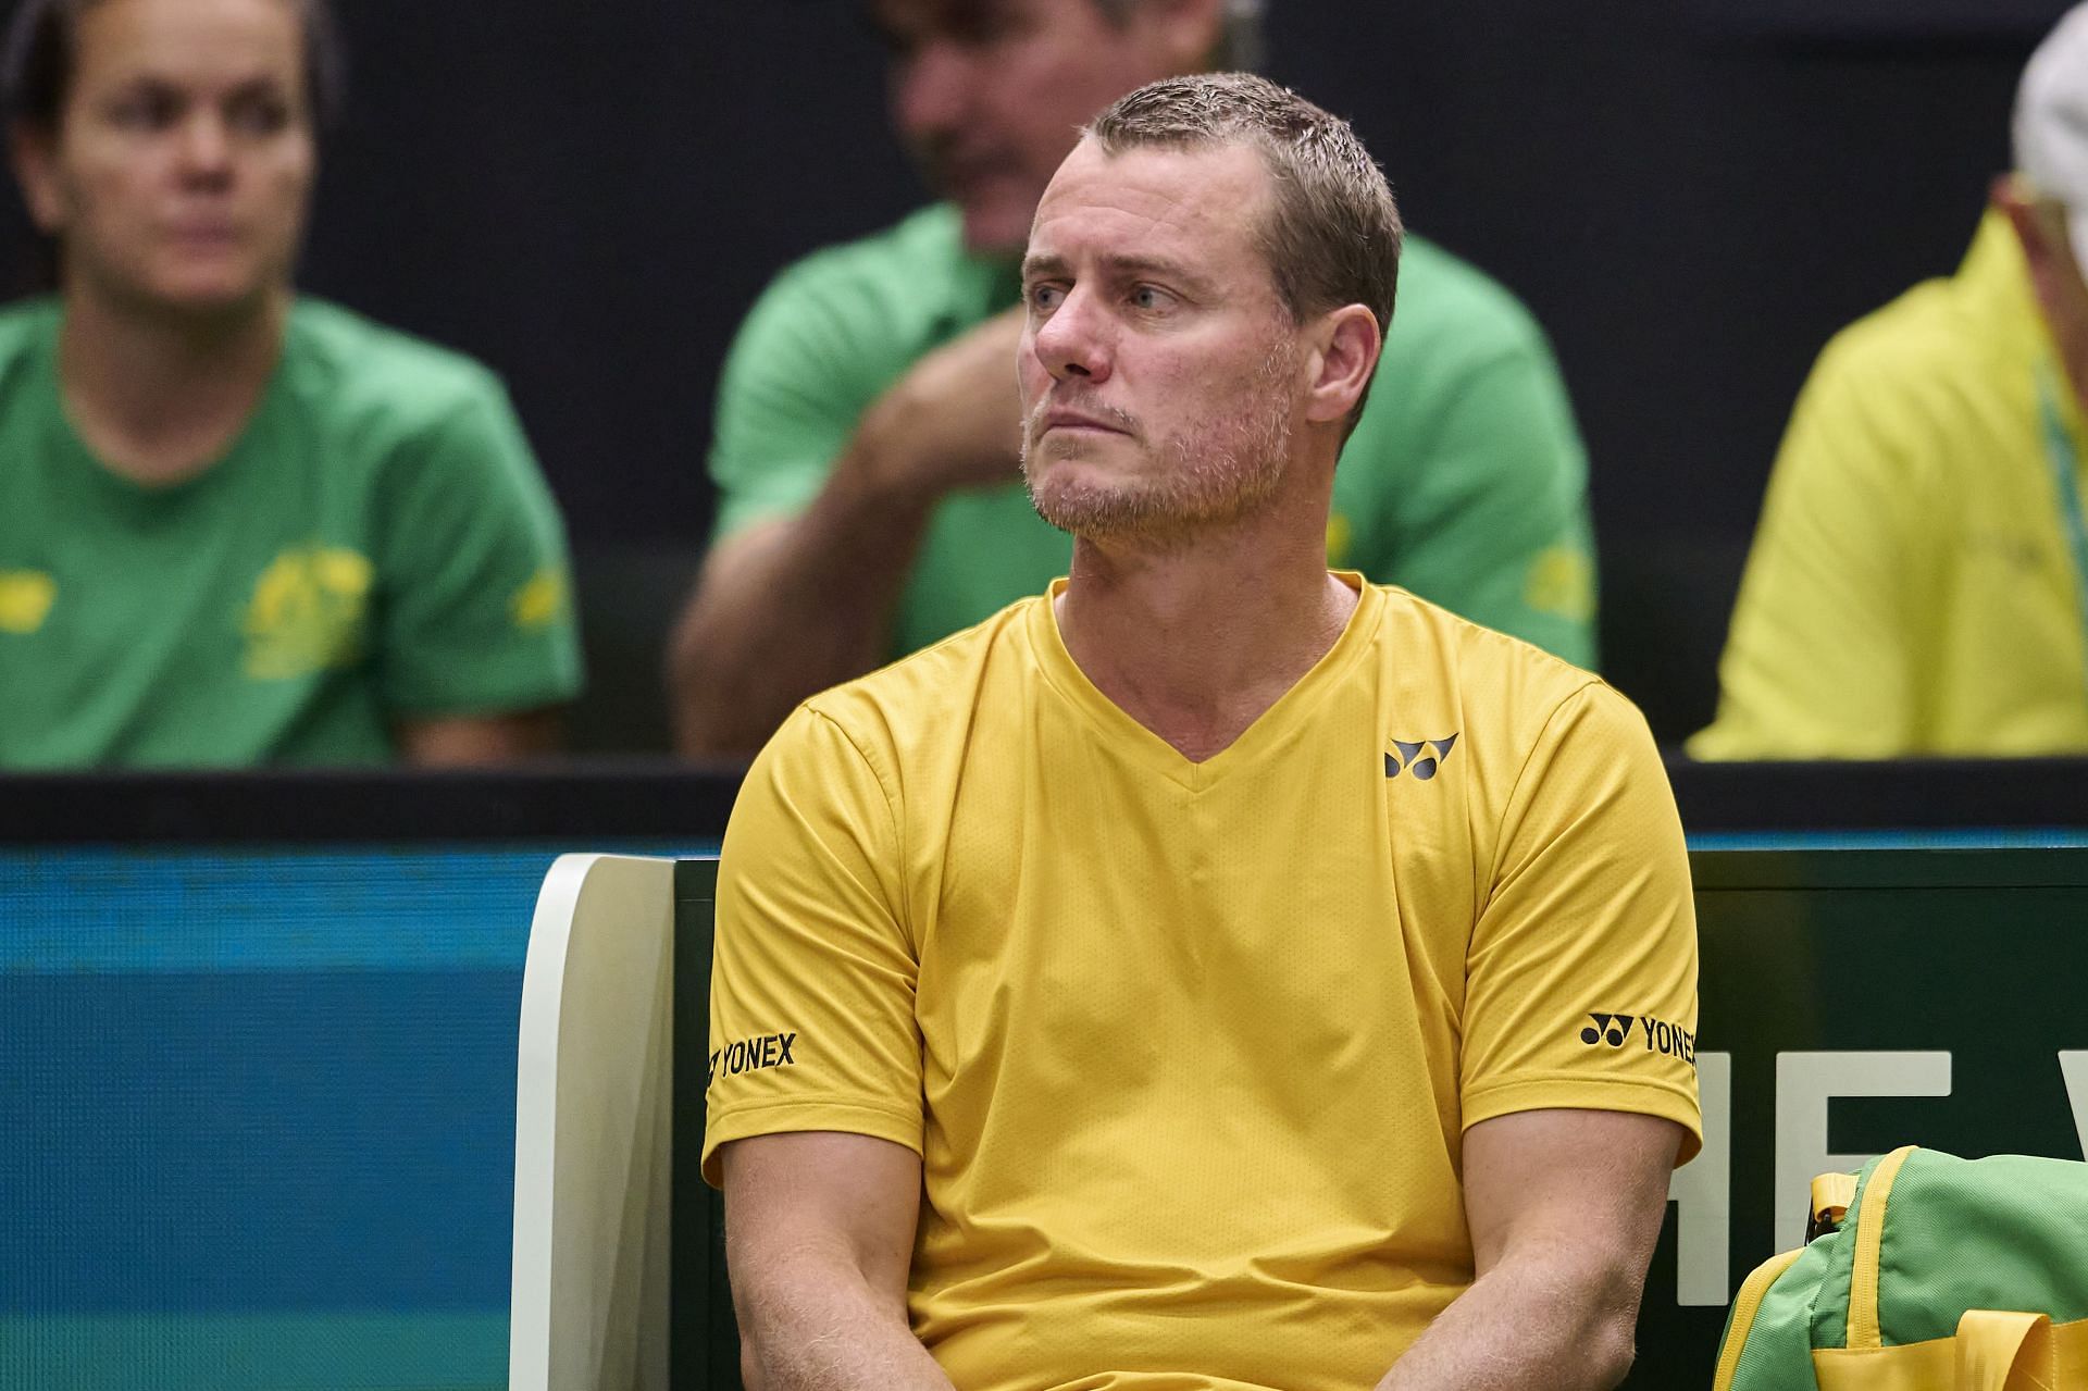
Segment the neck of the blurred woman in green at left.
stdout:
<svg viewBox="0 0 2088 1391">
<path fill-rule="evenodd" d="M 67 416 L 88 449 L 134 482 L 194 478 L 261 403 L 288 313 L 288 292 L 213 320 L 184 320 L 71 290 L 58 336 Z"/>
</svg>

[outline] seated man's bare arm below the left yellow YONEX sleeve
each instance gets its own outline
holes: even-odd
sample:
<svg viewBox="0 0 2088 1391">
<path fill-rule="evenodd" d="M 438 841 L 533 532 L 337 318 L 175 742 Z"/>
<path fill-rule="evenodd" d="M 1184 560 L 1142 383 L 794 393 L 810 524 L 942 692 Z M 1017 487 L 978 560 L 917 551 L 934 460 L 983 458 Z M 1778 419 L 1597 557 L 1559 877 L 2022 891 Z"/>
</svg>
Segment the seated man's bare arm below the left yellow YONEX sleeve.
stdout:
<svg viewBox="0 0 2088 1391">
<path fill-rule="evenodd" d="M 735 1140 L 718 1159 L 745 1383 L 950 1391 L 906 1322 L 921 1155 L 814 1130 Z"/>
</svg>

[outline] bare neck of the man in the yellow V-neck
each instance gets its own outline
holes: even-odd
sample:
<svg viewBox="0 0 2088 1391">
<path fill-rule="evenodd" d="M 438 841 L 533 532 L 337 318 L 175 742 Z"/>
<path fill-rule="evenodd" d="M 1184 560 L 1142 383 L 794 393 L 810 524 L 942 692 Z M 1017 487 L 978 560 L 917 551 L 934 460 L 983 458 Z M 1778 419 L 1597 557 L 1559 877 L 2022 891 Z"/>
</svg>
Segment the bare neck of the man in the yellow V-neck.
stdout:
<svg viewBox="0 0 2088 1391">
<path fill-rule="evenodd" d="M 1311 535 L 1242 524 L 1178 547 L 1077 539 L 1059 633 L 1102 696 L 1203 762 L 1340 639 L 1357 593 L 1326 572 L 1324 547 L 1324 520 Z"/>
</svg>

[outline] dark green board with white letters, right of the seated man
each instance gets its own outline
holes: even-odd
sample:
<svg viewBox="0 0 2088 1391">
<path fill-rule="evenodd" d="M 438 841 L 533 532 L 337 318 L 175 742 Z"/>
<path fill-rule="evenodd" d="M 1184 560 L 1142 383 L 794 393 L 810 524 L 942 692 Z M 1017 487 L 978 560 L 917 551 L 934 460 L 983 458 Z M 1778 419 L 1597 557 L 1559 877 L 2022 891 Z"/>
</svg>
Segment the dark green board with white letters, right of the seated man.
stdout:
<svg viewBox="0 0 2088 1391">
<path fill-rule="evenodd" d="M 1727 1301 L 1802 1241 L 1814 1174 L 1898 1145 L 2088 1147 L 2088 848 L 1698 850 L 1691 871 L 1706 1147 L 1670 1186 L 1645 1389 L 1710 1385 Z"/>
</svg>

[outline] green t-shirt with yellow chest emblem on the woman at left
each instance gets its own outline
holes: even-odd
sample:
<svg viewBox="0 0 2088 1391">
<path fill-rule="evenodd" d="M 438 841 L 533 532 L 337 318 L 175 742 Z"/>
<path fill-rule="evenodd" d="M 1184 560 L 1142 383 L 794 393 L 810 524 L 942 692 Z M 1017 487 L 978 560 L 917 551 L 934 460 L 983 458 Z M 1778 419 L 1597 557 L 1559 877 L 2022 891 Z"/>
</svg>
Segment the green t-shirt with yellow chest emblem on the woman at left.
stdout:
<svg viewBox="0 0 2088 1391">
<path fill-rule="evenodd" d="M 480 366 L 299 301 L 230 451 L 171 487 L 65 418 L 63 311 L 0 311 L 0 767 L 351 764 L 399 721 L 574 696 L 566 541 Z"/>
</svg>

